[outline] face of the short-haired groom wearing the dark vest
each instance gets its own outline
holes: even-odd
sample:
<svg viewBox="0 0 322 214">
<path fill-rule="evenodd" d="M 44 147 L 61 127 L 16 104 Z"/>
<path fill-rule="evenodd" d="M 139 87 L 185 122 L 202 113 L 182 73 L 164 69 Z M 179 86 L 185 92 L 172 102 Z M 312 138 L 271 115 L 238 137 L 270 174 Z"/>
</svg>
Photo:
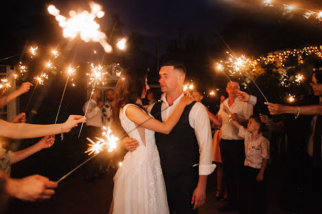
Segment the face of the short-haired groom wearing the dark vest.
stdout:
<svg viewBox="0 0 322 214">
<path fill-rule="evenodd" d="M 180 71 L 174 69 L 173 66 L 161 67 L 159 76 L 162 92 L 172 93 L 173 91 L 181 90 L 182 84 L 184 83 L 184 75 L 182 75 Z"/>
</svg>

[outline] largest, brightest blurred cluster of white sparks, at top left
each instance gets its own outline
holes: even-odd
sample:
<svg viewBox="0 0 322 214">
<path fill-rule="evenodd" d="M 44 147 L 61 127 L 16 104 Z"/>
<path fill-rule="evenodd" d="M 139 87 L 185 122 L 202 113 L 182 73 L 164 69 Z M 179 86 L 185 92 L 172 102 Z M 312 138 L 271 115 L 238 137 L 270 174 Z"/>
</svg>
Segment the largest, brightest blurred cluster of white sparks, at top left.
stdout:
<svg viewBox="0 0 322 214">
<path fill-rule="evenodd" d="M 86 43 L 90 40 L 100 43 L 105 49 L 105 52 L 109 53 L 112 51 L 112 48 L 105 40 L 107 36 L 100 31 L 100 25 L 94 20 L 96 17 L 102 18 L 105 13 L 101 11 L 102 7 L 97 3 L 89 3 L 89 6 L 91 7 L 91 12 L 88 12 L 87 10 L 84 10 L 83 12 L 71 10 L 69 12 L 69 19 L 62 16 L 54 5 L 50 5 L 47 10 L 50 14 L 55 16 L 59 26 L 63 28 L 63 36 L 65 38 L 75 38 L 79 35 Z"/>
</svg>

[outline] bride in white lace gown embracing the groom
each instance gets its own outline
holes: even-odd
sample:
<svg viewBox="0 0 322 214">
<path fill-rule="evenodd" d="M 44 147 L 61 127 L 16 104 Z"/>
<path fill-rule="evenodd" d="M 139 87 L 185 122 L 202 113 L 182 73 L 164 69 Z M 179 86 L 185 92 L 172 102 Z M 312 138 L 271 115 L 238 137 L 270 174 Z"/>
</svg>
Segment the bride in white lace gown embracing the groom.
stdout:
<svg viewBox="0 0 322 214">
<path fill-rule="evenodd" d="M 169 213 L 154 132 L 169 134 L 178 123 L 186 105 L 193 100 L 183 97 L 173 115 L 162 123 L 142 106 L 136 105 L 136 100 L 144 98 L 147 90 L 149 86 L 146 75 L 133 71 L 122 72 L 116 84 L 114 124 L 122 126 L 130 137 L 139 142 L 139 146 L 135 151 L 127 152 L 116 172 L 109 213 Z"/>
</svg>

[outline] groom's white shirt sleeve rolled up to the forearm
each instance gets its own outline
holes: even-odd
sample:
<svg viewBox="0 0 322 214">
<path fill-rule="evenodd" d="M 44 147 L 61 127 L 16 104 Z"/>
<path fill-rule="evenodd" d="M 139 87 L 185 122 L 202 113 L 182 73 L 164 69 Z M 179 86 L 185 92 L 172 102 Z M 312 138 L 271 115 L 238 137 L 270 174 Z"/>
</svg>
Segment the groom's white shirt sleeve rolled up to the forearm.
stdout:
<svg viewBox="0 0 322 214">
<path fill-rule="evenodd" d="M 196 103 L 189 114 L 190 126 L 195 130 L 195 136 L 199 145 L 199 175 L 211 174 L 216 165 L 213 164 L 213 141 L 211 136 L 211 123 L 206 108 L 201 103 Z"/>
</svg>

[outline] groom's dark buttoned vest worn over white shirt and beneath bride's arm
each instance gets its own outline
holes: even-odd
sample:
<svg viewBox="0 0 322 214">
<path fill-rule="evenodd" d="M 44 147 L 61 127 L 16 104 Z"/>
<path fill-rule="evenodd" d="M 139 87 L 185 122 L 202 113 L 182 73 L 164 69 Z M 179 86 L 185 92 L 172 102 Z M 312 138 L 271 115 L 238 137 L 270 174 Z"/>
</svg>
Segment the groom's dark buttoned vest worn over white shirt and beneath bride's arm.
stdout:
<svg viewBox="0 0 322 214">
<path fill-rule="evenodd" d="M 195 130 L 189 124 L 189 112 L 194 104 L 195 102 L 184 108 L 170 134 L 155 132 L 162 170 L 169 174 L 180 174 L 199 163 L 199 145 Z M 156 102 L 151 110 L 151 115 L 159 121 L 162 121 L 161 106 L 162 102 Z"/>
</svg>

